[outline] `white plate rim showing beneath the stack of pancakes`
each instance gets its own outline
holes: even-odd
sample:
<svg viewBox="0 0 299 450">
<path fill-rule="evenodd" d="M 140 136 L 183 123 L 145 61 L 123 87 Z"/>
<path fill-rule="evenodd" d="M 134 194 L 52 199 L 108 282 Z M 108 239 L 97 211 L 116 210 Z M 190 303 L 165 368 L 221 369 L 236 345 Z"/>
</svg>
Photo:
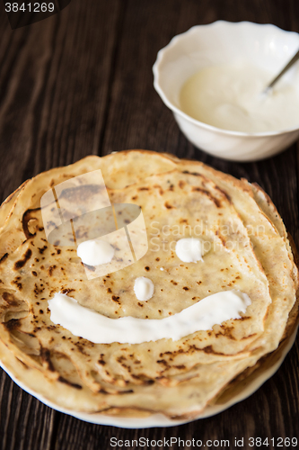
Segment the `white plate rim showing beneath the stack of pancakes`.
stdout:
<svg viewBox="0 0 299 450">
<path fill-rule="evenodd" d="M 6 369 L 6 367 L 3 365 L 3 363 L 0 362 L 0 366 L 4 369 L 4 371 L 9 374 L 9 376 L 13 379 L 13 382 L 18 384 L 24 391 L 30 393 L 33 395 L 33 397 L 36 397 L 38 400 L 40 400 L 45 405 L 49 406 L 50 408 L 53 408 L 53 410 L 57 410 L 60 412 L 64 412 L 65 414 L 68 414 L 70 416 L 74 416 L 76 419 L 81 419 L 86 422 L 91 422 L 99 425 L 110 425 L 113 427 L 120 427 L 120 428 L 152 428 L 152 427 L 174 427 L 176 425 L 182 425 L 184 423 L 191 422 L 193 420 L 197 419 L 205 419 L 211 416 L 215 416 L 215 414 L 219 414 L 220 412 L 227 410 L 231 406 L 233 406 L 235 403 L 238 403 L 239 401 L 243 401 L 247 399 L 253 392 L 256 392 L 259 387 L 265 383 L 273 374 L 275 374 L 280 367 L 280 365 L 283 363 L 287 353 L 293 346 L 295 342 L 295 337 L 297 333 L 297 328 L 295 329 L 294 334 L 289 339 L 289 342 L 287 343 L 287 346 L 284 348 L 282 355 L 277 360 L 277 363 L 272 365 L 268 368 L 265 372 L 262 374 L 259 374 L 254 380 L 249 383 L 246 388 L 239 393 L 238 395 L 234 396 L 229 401 L 221 404 L 221 405 L 213 405 L 210 407 L 207 407 L 207 409 L 200 414 L 195 419 L 187 419 L 187 420 L 171 420 L 163 416 L 163 414 L 152 414 L 151 416 L 147 418 L 116 418 L 113 416 L 105 416 L 101 413 L 84 413 L 80 411 L 74 411 L 74 410 L 67 410 L 65 408 L 62 408 L 61 406 L 58 406 L 57 404 L 53 403 L 52 401 L 48 401 L 45 397 L 40 395 L 38 392 L 35 392 L 31 389 L 29 389 L 25 384 L 20 382 L 13 374 Z"/>
</svg>

